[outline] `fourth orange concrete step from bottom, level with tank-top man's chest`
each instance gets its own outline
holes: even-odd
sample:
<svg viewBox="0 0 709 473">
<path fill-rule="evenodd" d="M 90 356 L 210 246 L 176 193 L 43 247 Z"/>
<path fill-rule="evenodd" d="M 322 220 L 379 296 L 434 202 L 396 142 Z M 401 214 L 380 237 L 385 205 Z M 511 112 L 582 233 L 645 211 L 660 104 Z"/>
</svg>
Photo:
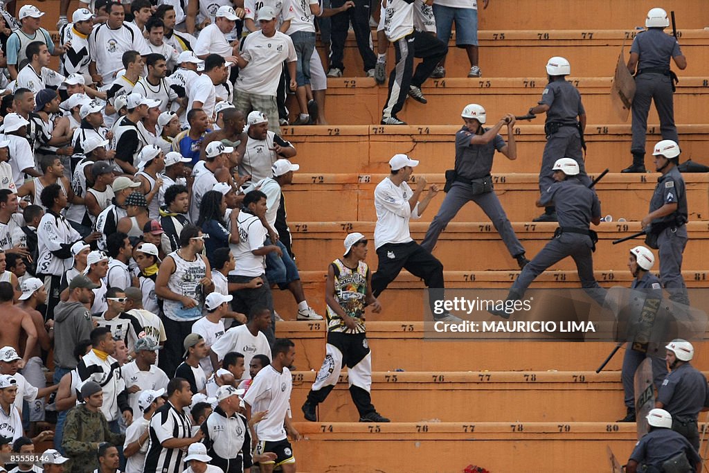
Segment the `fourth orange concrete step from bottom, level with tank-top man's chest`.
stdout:
<svg viewBox="0 0 709 473">
<path fill-rule="evenodd" d="M 617 267 L 620 267 L 620 265 L 623 264 L 622 262 L 627 261 L 625 254 L 630 247 L 630 245 L 625 247 L 622 255 L 619 255 L 619 258 L 622 256 L 623 260 L 615 260 Z M 485 253 L 485 251 L 479 251 L 478 254 Z M 534 253 L 530 253 L 529 256 L 533 255 Z M 334 259 L 334 257 L 331 258 Z M 370 255 L 368 260 L 369 267 L 375 271 L 376 257 Z M 687 257 L 687 253 L 685 252 L 686 266 L 691 264 L 701 265 L 700 261 L 702 261 L 700 256 L 694 256 L 691 259 Z M 298 265 L 301 265 L 300 260 L 298 260 Z M 559 265 L 559 267 L 562 266 L 566 267 L 566 261 L 563 261 L 562 264 Z M 599 267 L 602 266 L 596 265 L 596 268 Z M 300 275 L 308 304 L 316 308 L 318 313 L 324 315 L 325 269 L 327 268 L 327 263 L 322 265 L 321 268 L 322 269 L 318 271 L 301 271 Z M 657 267 L 655 271 L 657 271 Z M 443 277 L 447 289 L 484 289 L 489 291 L 488 295 L 490 297 L 494 296 L 495 299 L 503 299 L 507 296 L 507 291 L 512 285 L 512 282 L 517 279 L 518 274 L 518 269 L 508 269 L 505 271 L 444 270 Z M 601 284 L 601 286 L 605 288 L 614 286 L 627 288 L 630 287 L 630 282 L 632 282 L 630 272 L 627 270 L 596 269 L 593 274 L 598 284 Z M 682 276 L 687 287 L 690 289 L 703 289 L 707 286 L 707 281 L 709 280 L 709 272 L 705 269 L 688 269 L 682 272 Z M 532 289 L 579 289 L 581 284 L 579 283 L 579 277 L 576 274 L 575 268 L 573 270 L 549 269 L 540 274 L 540 276 L 532 282 L 530 287 L 532 287 Z M 413 274 L 409 272 L 402 271 L 396 280 L 389 284 L 386 291 L 379 296 L 379 301 L 383 307 L 382 312 L 372 314 L 370 319 L 374 321 L 423 321 L 424 290 L 425 285 L 420 278 L 413 276 Z M 286 321 L 295 320 L 296 304 L 294 303 L 291 293 L 289 291 L 274 290 L 273 296 L 275 308 L 279 314 L 281 314 L 281 317 Z M 690 296 L 693 298 L 693 304 L 698 304 L 699 302 L 704 303 L 706 297 L 704 291 L 698 294 L 690 294 Z M 701 300 L 698 301 L 697 299 Z M 700 305 L 699 307 L 704 306 Z M 320 328 L 317 328 L 317 330 L 320 330 Z"/>
</svg>

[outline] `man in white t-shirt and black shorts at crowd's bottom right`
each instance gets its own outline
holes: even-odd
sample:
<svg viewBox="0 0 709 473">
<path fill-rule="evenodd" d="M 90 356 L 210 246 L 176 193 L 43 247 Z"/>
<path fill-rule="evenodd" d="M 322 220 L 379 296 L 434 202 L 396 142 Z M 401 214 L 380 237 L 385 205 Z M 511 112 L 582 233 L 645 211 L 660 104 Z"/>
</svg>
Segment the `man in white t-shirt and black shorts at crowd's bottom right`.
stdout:
<svg viewBox="0 0 709 473">
<path fill-rule="evenodd" d="M 293 383 L 288 367 L 296 357 L 295 344 L 287 338 L 279 338 L 272 352 L 273 362 L 259 371 L 244 395 L 246 418 L 250 420 L 255 413 L 268 411 L 268 416 L 250 427 L 251 438 L 258 439 L 256 453 L 276 454 L 276 460 L 260 462 L 261 471 L 271 473 L 275 467 L 281 467 L 284 473 L 295 473 L 296 459 L 288 441 L 288 435 L 294 440 L 301 439 L 290 416 Z"/>
</svg>

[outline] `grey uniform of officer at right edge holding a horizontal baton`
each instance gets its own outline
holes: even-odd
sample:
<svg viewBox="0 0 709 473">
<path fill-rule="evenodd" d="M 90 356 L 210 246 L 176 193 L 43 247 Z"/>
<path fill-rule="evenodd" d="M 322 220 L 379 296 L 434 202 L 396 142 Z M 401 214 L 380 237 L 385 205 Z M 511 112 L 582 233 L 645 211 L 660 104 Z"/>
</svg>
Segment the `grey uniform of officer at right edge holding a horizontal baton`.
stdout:
<svg viewBox="0 0 709 473">
<path fill-rule="evenodd" d="M 689 305 L 687 286 L 682 277 L 682 253 L 687 245 L 687 193 L 682 174 L 676 166 L 657 179 L 657 186 L 650 199 L 650 212 L 664 204 L 673 203 L 677 204 L 674 213 L 652 221 L 656 228 L 665 227 L 657 235 L 660 281 L 672 301 Z"/>
</svg>

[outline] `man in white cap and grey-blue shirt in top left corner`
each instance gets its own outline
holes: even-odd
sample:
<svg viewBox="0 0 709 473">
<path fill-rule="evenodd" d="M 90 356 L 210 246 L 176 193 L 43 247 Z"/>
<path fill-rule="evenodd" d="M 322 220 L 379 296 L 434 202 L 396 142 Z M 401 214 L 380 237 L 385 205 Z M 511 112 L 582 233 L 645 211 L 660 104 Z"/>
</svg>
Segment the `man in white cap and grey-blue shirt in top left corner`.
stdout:
<svg viewBox="0 0 709 473">
<path fill-rule="evenodd" d="M 28 55 L 26 54 L 27 46 L 33 41 L 41 41 L 44 43 L 51 55 L 61 55 L 64 53 L 64 47 L 54 47 L 54 41 L 48 30 L 40 27 L 44 12 L 40 11 L 34 5 L 25 5 L 20 9 L 17 19 L 21 27 L 14 30 L 7 38 L 5 47 L 7 56 L 7 69 L 10 72 L 11 79 L 17 79 L 19 72 L 18 65 L 23 62 Z M 38 34 L 39 33 L 39 34 Z"/>
</svg>

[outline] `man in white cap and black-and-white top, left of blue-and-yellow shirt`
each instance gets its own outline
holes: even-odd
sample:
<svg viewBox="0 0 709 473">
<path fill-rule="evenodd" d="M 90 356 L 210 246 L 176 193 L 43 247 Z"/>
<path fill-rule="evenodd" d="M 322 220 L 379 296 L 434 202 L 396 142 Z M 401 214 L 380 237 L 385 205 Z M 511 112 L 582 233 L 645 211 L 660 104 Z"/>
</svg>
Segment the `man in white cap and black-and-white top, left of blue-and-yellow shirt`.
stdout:
<svg viewBox="0 0 709 473">
<path fill-rule="evenodd" d="M 140 130 L 138 123 L 147 117 L 148 108 L 160 105 L 157 100 L 146 99 L 144 96 L 132 93 L 126 96 L 125 106 L 128 113 L 113 127 L 113 142 L 116 149 L 116 163 L 126 174 L 134 175 L 138 172 L 135 166 L 138 153 L 144 146 L 150 144 L 145 130 Z"/>
</svg>

